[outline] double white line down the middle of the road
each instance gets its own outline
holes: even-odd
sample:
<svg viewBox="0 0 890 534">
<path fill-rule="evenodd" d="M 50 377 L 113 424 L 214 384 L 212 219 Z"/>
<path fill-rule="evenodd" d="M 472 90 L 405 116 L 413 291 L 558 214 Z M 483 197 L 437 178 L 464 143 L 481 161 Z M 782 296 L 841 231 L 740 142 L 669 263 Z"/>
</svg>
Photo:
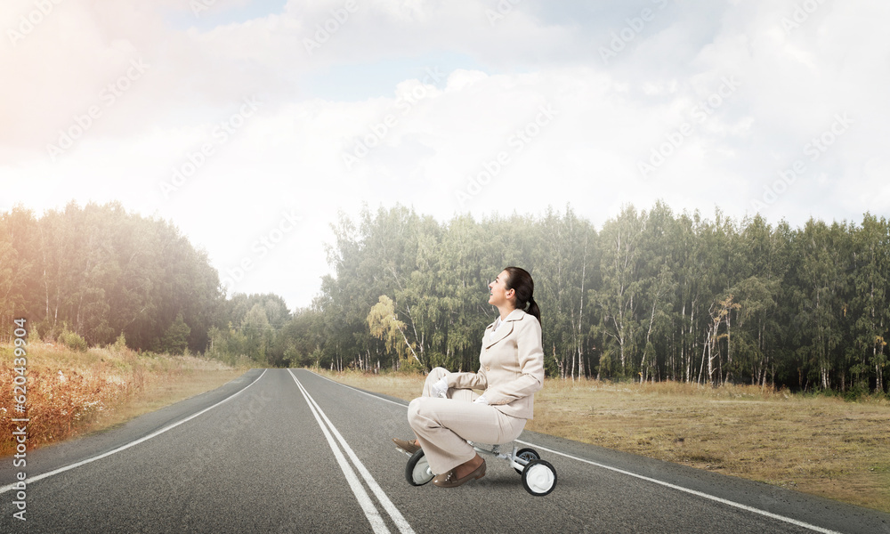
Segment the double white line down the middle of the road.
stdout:
<svg viewBox="0 0 890 534">
<path fill-rule="evenodd" d="M 352 489 L 352 493 L 355 494 L 355 498 L 359 501 L 359 505 L 361 509 L 365 512 L 365 515 L 368 517 L 368 522 L 371 523 L 371 528 L 374 529 L 375 532 L 389 532 L 389 528 L 386 526 L 386 522 L 384 521 L 383 516 L 380 512 L 377 511 L 376 506 L 374 506 L 374 502 L 371 500 L 370 496 L 368 496 L 368 492 L 365 490 L 364 486 L 361 485 L 359 481 L 359 477 L 356 476 L 355 471 L 352 470 L 352 465 L 355 465 L 355 468 L 359 471 L 361 478 L 364 479 L 365 483 L 368 484 L 368 488 L 374 493 L 374 496 L 380 502 L 381 506 L 384 507 L 384 510 L 387 514 L 392 518 L 392 522 L 399 528 L 399 531 L 402 534 L 414 534 L 414 530 L 411 529 L 411 525 L 405 520 L 405 518 L 399 512 L 399 509 L 392 504 L 392 501 L 386 494 L 384 490 L 382 490 L 374 480 L 374 477 L 371 476 L 371 473 L 368 472 L 368 469 L 364 464 L 361 463 L 359 457 L 355 456 L 355 453 L 352 452 L 352 448 L 350 448 L 349 444 L 346 443 L 346 440 L 343 439 L 343 436 L 337 432 L 336 427 L 333 423 L 331 423 L 328 416 L 325 415 L 325 412 L 321 411 L 320 406 L 309 392 L 306 391 L 306 388 L 303 387 L 303 384 L 300 384 L 300 381 L 296 379 L 294 372 L 290 369 L 287 369 L 287 372 L 290 373 L 290 376 L 294 378 L 294 382 L 297 387 L 300 388 L 300 392 L 303 393 L 303 398 L 306 399 L 306 403 L 309 405 L 309 409 L 312 410 L 312 415 L 315 416 L 315 420 L 318 421 L 319 426 L 321 427 L 321 432 L 325 434 L 325 438 L 328 440 L 328 446 L 330 446 L 331 451 L 334 452 L 334 457 L 336 457 L 337 463 L 340 465 L 340 469 L 343 470 L 343 474 L 346 477 L 346 481 L 349 482 L 349 487 Z M 333 434 L 333 436 L 331 435 Z M 352 465 L 349 465 L 349 462 L 346 461 L 343 452 L 337 447 L 334 438 L 336 437 L 336 441 L 340 443 L 340 447 L 343 447 L 346 455 L 352 460 Z"/>
</svg>

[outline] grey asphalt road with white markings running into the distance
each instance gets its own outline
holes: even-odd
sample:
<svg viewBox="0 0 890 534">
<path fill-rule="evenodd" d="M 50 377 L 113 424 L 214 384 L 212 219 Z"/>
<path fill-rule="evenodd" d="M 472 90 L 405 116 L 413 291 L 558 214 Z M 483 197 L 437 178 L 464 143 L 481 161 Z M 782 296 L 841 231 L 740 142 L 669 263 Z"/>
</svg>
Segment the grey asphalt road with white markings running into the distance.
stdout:
<svg viewBox="0 0 890 534">
<path fill-rule="evenodd" d="M 888 514 L 530 432 L 559 476 L 546 497 L 493 457 L 479 481 L 414 487 L 390 441 L 412 435 L 406 407 L 255 369 L 23 468 L 0 458 L 0 531 L 890 533 Z"/>
</svg>

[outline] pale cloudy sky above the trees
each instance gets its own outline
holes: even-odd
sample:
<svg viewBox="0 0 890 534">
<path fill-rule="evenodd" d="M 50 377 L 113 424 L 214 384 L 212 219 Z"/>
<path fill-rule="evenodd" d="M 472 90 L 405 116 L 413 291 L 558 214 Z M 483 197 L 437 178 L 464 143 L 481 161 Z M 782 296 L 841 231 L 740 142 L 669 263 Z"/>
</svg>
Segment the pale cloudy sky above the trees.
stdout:
<svg viewBox="0 0 890 534">
<path fill-rule="evenodd" d="M 6 0 L 0 211 L 119 201 L 311 305 L 331 224 L 890 216 L 886 0 Z"/>
</svg>

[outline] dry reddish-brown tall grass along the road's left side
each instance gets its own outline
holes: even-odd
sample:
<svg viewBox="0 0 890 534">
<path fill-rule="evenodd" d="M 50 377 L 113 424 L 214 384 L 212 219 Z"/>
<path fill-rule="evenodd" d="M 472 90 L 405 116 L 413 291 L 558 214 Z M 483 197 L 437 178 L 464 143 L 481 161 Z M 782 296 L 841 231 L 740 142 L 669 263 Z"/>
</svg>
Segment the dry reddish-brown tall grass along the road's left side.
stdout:
<svg viewBox="0 0 890 534">
<path fill-rule="evenodd" d="M 27 415 L 14 410 L 11 345 L 0 345 L 0 456 L 14 450 L 12 418 L 28 417 L 28 449 L 103 430 L 205 392 L 244 372 L 193 356 L 146 356 L 127 349 L 75 352 L 28 344 Z M 16 393 L 18 394 L 18 393 Z"/>
</svg>

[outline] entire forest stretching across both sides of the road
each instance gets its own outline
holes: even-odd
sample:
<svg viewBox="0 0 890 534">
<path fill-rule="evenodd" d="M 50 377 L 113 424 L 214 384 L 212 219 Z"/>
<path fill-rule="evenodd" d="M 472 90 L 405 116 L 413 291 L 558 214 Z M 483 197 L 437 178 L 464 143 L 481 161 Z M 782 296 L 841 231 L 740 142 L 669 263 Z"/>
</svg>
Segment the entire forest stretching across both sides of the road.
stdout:
<svg viewBox="0 0 890 534">
<path fill-rule="evenodd" d="M 332 228 L 331 274 L 291 312 L 279 295 L 226 295 L 172 223 L 117 203 L 17 206 L 0 214 L 0 335 L 26 317 L 32 335 L 81 346 L 475 370 L 497 313 L 488 283 L 518 265 L 536 282 L 548 376 L 887 391 L 884 217 L 792 228 L 659 202 L 595 228 L 570 206 L 438 222 L 396 205 Z"/>
</svg>

